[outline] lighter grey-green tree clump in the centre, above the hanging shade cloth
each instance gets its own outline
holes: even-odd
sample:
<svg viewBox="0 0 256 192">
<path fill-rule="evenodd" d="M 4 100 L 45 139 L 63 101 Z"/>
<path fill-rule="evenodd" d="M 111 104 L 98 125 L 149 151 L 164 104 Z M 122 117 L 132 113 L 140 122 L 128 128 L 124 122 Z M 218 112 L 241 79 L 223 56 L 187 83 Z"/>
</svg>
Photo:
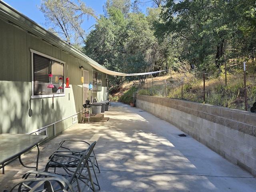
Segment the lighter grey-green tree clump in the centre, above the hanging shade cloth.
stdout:
<svg viewBox="0 0 256 192">
<path fill-rule="evenodd" d="M 168 68 L 173 60 L 169 44 L 159 42 L 154 35 L 154 24 L 159 18 L 162 0 L 155 3 L 158 8 L 149 8 L 147 15 L 130 4 L 129 0 L 107 0 L 104 15 L 88 34 L 82 52 L 106 67 L 122 73 L 141 73 Z M 130 10 L 134 12 L 130 12 Z M 136 10 L 136 11 L 135 11 Z M 114 89 L 125 80 L 139 80 L 145 76 L 110 77 Z"/>
</svg>

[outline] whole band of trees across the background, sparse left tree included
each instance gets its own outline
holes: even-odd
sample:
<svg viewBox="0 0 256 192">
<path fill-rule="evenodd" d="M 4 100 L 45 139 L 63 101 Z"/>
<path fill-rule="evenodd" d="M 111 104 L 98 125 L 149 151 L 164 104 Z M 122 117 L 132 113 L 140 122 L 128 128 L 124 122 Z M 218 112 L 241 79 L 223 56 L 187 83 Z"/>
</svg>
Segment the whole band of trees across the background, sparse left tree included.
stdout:
<svg viewBox="0 0 256 192">
<path fill-rule="evenodd" d="M 255 0 L 149 2 L 152 7 L 144 14 L 139 5 L 147 2 L 107 0 L 100 18 L 81 0 L 42 0 L 40 10 L 51 32 L 75 48 L 85 44 L 84 54 L 116 72 L 179 68 L 183 63 L 217 71 L 225 60 L 255 58 Z M 81 28 L 86 16 L 97 19 L 87 36 Z M 143 82 L 145 77 L 139 78 Z M 111 79 L 114 87 L 125 80 Z"/>
</svg>

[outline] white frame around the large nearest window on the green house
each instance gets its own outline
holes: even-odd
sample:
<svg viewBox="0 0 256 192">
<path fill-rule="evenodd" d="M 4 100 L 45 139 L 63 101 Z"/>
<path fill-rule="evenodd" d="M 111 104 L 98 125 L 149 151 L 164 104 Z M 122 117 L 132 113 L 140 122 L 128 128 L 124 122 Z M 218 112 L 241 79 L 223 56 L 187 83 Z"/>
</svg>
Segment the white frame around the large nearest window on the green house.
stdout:
<svg viewBox="0 0 256 192">
<path fill-rule="evenodd" d="M 50 94 L 43 94 L 43 95 L 34 95 L 34 54 L 38 54 L 40 56 L 43 56 L 43 57 L 46 57 L 46 58 L 49 58 L 51 60 L 55 60 L 57 62 L 60 62 L 61 64 L 64 65 L 64 78 L 63 78 L 63 86 L 65 85 L 65 64 L 66 62 L 62 61 L 62 60 L 59 60 L 59 59 L 56 59 L 52 56 L 49 56 L 49 55 L 46 55 L 46 54 L 43 54 L 41 52 L 38 52 L 36 50 L 33 50 L 33 49 L 30 49 L 30 52 L 31 52 L 31 63 L 32 63 L 32 80 L 31 80 L 31 84 L 32 84 L 32 90 L 31 90 L 31 98 L 32 99 L 36 99 L 36 98 L 49 98 L 49 97 L 60 97 L 60 96 L 65 96 L 65 87 L 63 89 L 63 93 L 58 93 L 58 94 L 55 94 L 55 93 L 50 93 Z M 52 79 L 52 81 L 54 81 L 54 78 Z"/>
</svg>

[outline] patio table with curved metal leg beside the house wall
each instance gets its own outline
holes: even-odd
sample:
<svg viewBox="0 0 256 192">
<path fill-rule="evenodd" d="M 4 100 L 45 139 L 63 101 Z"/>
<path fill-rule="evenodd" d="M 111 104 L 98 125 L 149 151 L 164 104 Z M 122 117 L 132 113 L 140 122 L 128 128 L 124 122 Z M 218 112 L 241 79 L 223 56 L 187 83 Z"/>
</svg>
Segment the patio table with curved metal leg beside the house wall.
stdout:
<svg viewBox="0 0 256 192">
<path fill-rule="evenodd" d="M 45 135 L 29 135 L 29 134 L 0 134 L 0 169 L 8 165 L 12 161 L 19 158 L 20 164 L 26 168 L 35 168 L 38 170 L 38 160 L 40 150 L 38 143 L 46 138 Z M 26 166 L 21 160 L 21 155 L 37 147 L 38 154 L 36 159 L 36 166 Z"/>
</svg>

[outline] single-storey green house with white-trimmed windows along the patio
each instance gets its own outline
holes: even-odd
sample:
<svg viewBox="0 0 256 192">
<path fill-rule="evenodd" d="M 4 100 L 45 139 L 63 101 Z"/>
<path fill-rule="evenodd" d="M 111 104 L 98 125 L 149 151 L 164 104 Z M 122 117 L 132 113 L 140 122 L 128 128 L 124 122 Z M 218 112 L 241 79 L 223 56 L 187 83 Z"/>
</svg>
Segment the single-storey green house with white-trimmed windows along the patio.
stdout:
<svg viewBox="0 0 256 192">
<path fill-rule="evenodd" d="M 0 133 L 50 138 L 81 120 L 87 98 L 108 99 L 113 72 L 2 1 L 0 47 Z"/>
</svg>

